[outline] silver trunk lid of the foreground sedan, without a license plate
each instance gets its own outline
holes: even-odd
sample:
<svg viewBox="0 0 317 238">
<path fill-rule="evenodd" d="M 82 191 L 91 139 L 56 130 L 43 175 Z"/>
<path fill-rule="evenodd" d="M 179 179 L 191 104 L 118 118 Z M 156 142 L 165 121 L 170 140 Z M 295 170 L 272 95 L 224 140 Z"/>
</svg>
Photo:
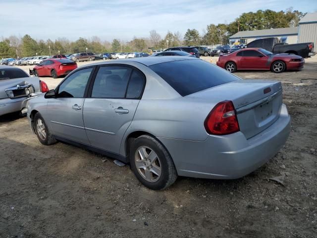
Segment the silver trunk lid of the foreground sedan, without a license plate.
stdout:
<svg viewBox="0 0 317 238">
<path fill-rule="evenodd" d="M 240 131 L 248 139 L 278 119 L 282 105 L 282 86 L 276 81 L 237 80 L 186 97 L 201 98 L 215 103 L 232 101 Z"/>
</svg>

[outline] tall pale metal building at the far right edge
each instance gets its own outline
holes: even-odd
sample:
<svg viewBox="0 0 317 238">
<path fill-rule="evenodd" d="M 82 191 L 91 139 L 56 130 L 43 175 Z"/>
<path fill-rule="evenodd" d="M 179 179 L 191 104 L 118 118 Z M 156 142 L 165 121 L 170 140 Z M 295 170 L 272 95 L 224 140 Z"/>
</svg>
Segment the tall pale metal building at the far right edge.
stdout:
<svg viewBox="0 0 317 238">
<path fill-rule="evenodd" d="M 317 12 L 307 13 L 299 21 L 298 43 L 314 42 L 317 51 Z"/>
</svg>

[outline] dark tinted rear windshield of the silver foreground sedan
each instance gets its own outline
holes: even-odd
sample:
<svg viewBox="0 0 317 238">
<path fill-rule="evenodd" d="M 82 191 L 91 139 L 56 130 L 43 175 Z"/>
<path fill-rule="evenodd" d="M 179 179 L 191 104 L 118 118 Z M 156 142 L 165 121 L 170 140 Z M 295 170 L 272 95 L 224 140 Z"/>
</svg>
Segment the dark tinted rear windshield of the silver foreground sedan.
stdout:
<svg viewBox="0 0 317 238">
<path fill-rule="evenodd" d="M 239 80 L 238 77 L 204 60 L 179 60 L 149 66 L 181 96 L 220 84 Z"/>
</svg>

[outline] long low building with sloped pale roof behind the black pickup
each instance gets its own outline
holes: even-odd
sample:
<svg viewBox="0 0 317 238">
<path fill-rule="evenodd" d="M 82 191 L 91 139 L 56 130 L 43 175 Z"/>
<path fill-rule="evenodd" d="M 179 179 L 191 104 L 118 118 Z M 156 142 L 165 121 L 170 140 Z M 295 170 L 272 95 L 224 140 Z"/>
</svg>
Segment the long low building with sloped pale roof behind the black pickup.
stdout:
<svg viewBox="0 0 317 238">
<path fill-rule="evenodd" d="M 239 31 L 229 37 L 229 43 L 230 45 L 236 42 L 240 42 L 241 44 L 248 44 L 254 40 L 267 37 L 277 37 L 281 42 L 295 44 L 298 40 L 298 27 Z"/>
</svg>

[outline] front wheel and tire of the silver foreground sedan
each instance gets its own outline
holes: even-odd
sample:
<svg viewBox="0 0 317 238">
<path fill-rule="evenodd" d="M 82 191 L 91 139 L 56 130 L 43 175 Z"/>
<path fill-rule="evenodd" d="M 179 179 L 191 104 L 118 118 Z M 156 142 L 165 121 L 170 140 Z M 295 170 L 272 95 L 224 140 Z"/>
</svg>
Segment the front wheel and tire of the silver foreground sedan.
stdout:
<svg viewBox="0 0 317 238">
<path fill-rule="evenodd" d="M 52 145 L 57 142 L 40 113 L 35 114 L 32 126 L 39 141 L 43 145 Z"/>
</svg>

